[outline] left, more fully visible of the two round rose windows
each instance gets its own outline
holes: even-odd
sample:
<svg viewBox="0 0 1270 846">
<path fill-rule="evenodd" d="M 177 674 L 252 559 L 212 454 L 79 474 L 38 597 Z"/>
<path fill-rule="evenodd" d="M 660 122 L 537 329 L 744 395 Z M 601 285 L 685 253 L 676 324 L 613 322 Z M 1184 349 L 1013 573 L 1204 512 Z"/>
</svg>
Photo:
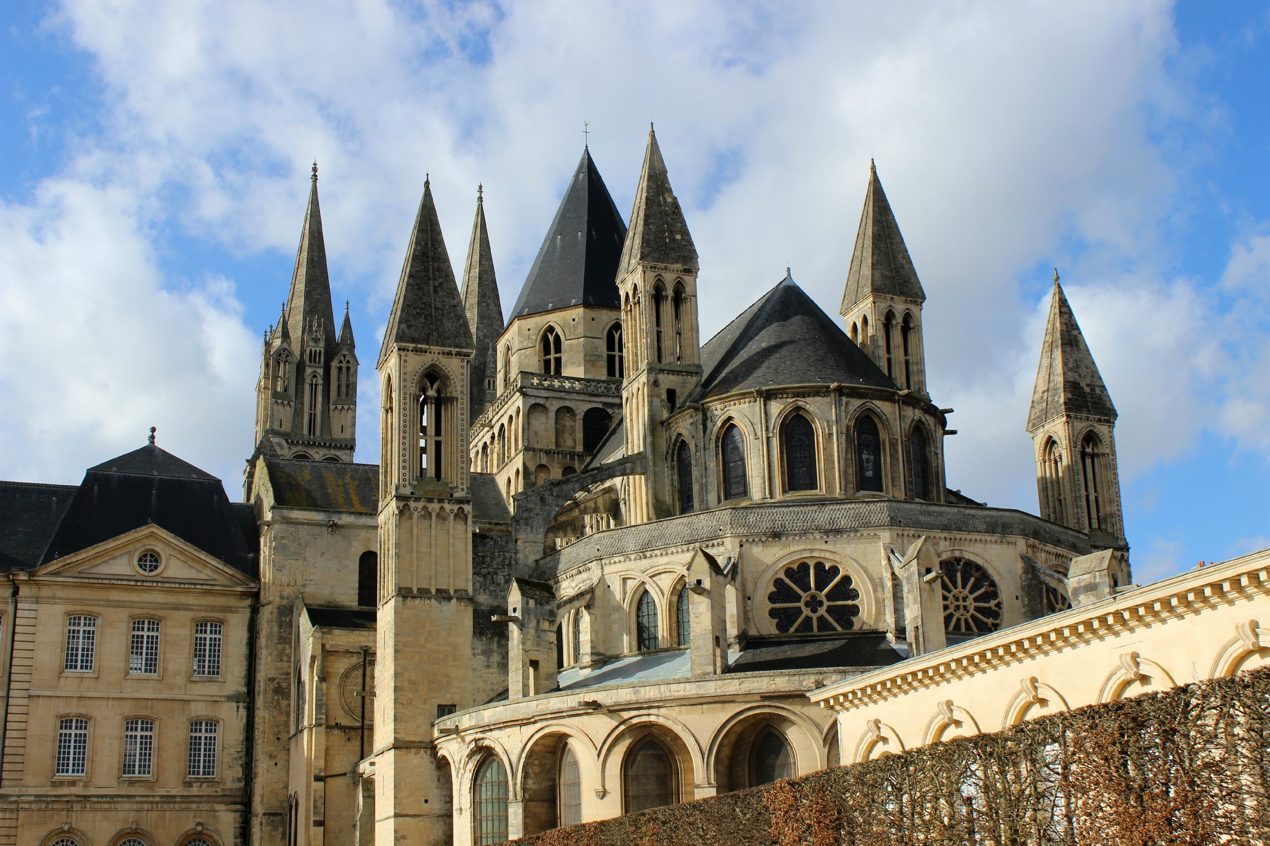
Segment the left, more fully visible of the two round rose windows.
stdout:
<svg viewBox="0 0 1270 846">
<path fill-rule="evenodd" d="M 786 567 L 767 594 L 767 616 L 781 633 L 846 631 L 860 616 L 860 591 L 842 568 L 824 561 Z"/>
</svg>

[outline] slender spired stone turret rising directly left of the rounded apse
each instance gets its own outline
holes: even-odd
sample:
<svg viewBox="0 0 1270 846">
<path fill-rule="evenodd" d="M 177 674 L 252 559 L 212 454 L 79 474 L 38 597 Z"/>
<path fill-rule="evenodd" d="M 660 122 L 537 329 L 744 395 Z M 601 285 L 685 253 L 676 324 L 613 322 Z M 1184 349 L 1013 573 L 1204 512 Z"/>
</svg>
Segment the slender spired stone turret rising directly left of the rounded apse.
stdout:
<svg viewBox="0 0 1270 846">
<path fill-rule="evenodd" d="M 624 506 L 630 523 L 674 514 L 672 461 L 662 422 L 701 381 L 697 271 L 697 249 L 671 189 L 657 133 L 650 128 L 617 265 L 626 326 L 626 455 L 643 452 L 649 460 L 648 475 L 625 480 Z"/>
</svg>

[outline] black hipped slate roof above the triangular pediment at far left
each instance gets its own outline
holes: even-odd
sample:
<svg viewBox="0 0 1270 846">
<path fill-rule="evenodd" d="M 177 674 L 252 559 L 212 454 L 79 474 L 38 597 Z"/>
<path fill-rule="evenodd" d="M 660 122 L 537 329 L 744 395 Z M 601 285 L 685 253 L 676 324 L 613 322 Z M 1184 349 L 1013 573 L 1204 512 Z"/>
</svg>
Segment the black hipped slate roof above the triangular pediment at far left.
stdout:
<svg viewBox="0 0 1270 846">
<path fill-rule="evenodd" d="M 255 578 L 259 536 L 251 507 L 231 503 L 216 476 L 152 443 L 84 474 L 41 556 L 65 558 L 154 523 Z"/>
</svg>

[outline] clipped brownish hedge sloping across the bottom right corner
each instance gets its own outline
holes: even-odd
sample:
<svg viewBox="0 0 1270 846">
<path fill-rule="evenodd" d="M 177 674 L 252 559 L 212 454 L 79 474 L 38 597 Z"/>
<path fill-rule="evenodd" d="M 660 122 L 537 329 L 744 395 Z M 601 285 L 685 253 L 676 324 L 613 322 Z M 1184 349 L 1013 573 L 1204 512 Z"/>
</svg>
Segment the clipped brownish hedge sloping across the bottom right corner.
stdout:
<svg viewBox="0 0 1270 846">
<path fill-rule="evenodd" d="M 1270 843 L 1270 668 L 522 846 Z"/>
</svg>

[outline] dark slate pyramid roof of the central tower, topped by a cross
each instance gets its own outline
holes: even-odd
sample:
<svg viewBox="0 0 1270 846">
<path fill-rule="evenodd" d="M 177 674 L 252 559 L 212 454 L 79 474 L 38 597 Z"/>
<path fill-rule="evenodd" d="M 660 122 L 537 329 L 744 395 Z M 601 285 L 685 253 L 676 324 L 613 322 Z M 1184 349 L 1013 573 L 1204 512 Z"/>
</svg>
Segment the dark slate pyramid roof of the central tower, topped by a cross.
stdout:
<svg viewBox="0 0 1270 846">
<path fill-rule="evenodd" d="M 512 319 L 573 305 L 621 307 L 617 264 L 625 241 L 626 224 L 584 149 Z"/>
</svg>

